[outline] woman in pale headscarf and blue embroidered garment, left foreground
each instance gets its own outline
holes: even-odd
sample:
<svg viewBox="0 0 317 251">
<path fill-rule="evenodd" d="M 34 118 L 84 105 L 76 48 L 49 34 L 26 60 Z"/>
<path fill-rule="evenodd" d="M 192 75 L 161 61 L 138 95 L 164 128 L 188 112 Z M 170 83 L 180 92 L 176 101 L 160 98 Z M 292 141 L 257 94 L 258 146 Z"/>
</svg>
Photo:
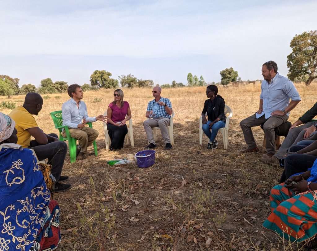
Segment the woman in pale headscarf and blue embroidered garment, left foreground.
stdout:
<svg viewBox="0 0 317 251">
<path fill-rule="evenodd" d="M 34 153 L 19 146 L 15 122 L 0 112 L 0 250 L 54 250 L 59 207 Z"/>
</svg>

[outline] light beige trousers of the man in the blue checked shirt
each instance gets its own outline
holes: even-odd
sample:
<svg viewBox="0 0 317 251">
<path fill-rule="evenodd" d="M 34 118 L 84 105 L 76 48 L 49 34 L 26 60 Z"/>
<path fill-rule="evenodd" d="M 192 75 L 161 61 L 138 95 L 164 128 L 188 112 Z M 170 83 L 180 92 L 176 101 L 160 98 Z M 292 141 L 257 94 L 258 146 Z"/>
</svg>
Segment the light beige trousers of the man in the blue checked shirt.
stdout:
<svg viewBox="0 0 317 251">
<path fill-rule="evenodd" d="M 171 119 L 170 118 L 157 118 L 157 119 L 148 119 L 143 122 L 143 127 L 146 132 L 146 137 L 149 143 L 152 143 L 155 145 L 155 139 L 153 136 L 152 127 L 159 126 L 159 129 L 161 130 L 162 137 L 164 139 L 165 144 L 171 143 L 170 135 L 168 134 L 167 126 L 170 125 Z"/>
</svg>

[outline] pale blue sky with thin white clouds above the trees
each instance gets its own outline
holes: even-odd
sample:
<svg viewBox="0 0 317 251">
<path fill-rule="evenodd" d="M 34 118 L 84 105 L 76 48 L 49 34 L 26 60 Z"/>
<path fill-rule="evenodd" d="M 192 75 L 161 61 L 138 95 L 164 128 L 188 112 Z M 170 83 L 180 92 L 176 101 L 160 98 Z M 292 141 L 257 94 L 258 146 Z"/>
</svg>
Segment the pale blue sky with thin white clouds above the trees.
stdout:
<svg viewBox="0 0 317 251">
<path fill-rule="evenodd" d="M 188 72 L 218 82 L 227 67 L 262 79 L 274 60 L 286 76 L 289 43 L 316 30 L 316 9 L 309 0 L 0 0 L 0 74 L 20 86 L 82 85 L 94 70 L 187 84 Z"/>
</svg>

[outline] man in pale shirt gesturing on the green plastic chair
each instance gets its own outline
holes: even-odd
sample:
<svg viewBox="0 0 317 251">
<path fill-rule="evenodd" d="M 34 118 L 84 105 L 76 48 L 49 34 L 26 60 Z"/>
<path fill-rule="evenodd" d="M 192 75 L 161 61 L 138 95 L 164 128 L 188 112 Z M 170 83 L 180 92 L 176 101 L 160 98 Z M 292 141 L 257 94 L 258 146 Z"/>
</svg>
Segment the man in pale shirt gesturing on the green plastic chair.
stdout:
<svg viewBox="0 0 317 251">
<path fill-rule="evenodd" d="M 84 159 L 84 154 L 87 153 L 87 147 L 90 146 L 98 137 L 99 132 L 93 128 L 85 126 L 87 122 L 100 120 L 106 122 L 106 117 L 99 115 L 97 117 L 88 117 L 87 106 L 83 98 L 84 92 L 80 85 L 69 85 L 67 89 L 69 97 L 62 105 L 63 125 L 67 125 L 72 138 L 78 139 L 81 146 L 81 151 L 77 155 L 77 159 Z M 65 131 L 63 136 L 66 137 Z"/>
</svg>

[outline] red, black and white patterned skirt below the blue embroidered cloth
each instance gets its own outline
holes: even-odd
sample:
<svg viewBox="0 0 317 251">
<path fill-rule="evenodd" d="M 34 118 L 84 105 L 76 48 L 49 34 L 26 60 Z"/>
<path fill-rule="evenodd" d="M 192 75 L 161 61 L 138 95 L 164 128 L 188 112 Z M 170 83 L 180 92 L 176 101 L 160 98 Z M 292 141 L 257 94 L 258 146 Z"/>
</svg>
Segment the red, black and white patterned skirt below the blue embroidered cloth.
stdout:
<svg viewBox="0 0 317 251">
<path fill-rule="evenodd" d="M 37 234 L 30 251 L 54 250 L 60 241 L 59 206 L 55 200 L 51 200 L 46 208 L 44 225 Z"/>
</svg>

